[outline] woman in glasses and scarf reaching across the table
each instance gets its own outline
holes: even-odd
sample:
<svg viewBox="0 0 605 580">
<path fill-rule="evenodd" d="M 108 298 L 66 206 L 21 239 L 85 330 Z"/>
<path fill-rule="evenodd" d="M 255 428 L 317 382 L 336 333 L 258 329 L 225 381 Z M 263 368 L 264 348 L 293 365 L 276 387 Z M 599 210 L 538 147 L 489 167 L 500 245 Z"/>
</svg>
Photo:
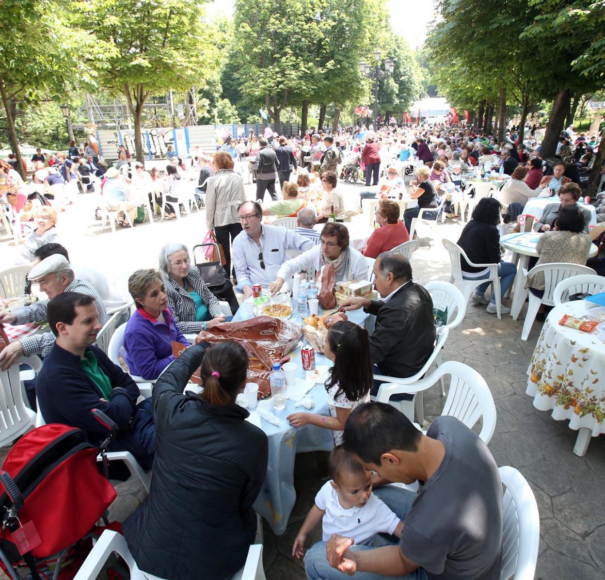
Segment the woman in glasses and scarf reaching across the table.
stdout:
<svg viewBox="0 0 605 580">
<path fill-rule="evenodd" d="M 334 265 L 336 282 L 368 279 L 368 263 L 349 245 L 348 229 L 342 223 L 327 223 L 319 236 L 319 245 L 285 262 L 277 272 L 275 282 L 269 285 L 271 294 L 279 292 L 295 272 L 309 268 L 319 272 L 330 264 Z"/>
</svg>

